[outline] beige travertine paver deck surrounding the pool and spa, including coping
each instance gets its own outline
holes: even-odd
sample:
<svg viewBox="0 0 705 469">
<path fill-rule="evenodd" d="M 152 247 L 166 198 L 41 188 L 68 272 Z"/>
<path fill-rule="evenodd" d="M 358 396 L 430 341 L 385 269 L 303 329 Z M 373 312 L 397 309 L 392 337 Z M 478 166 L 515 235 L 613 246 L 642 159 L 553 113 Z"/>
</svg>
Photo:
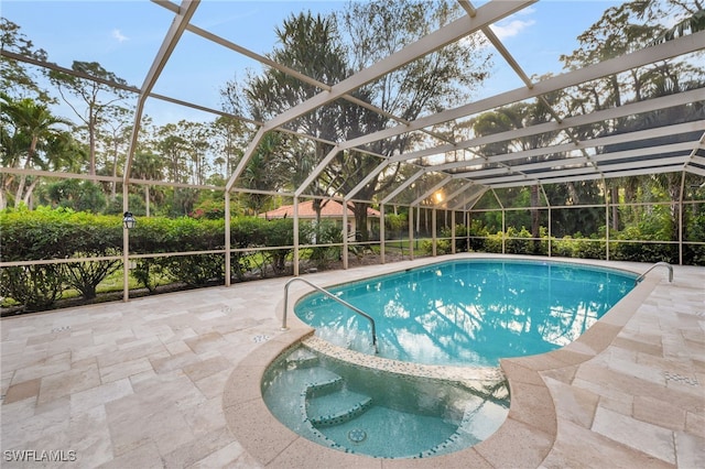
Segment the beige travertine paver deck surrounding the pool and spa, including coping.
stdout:
<svg viewBox="0 0 705 469">
<path fill-rule="evenodd" d="M 443 259 L 306 277 L 325 285 Z M 673 284 L 665 270 L 650 273 L 641 298 L 625 299 L 578 342 L 505 361 L 509 419 L 443 461 L 372 459 L 274 435 L 257 373 L 306 334 L 279 330 L 289 279 L 6 318 L 2 467 L 56 467 L 46 459 L 58 457 L 65 467 L 115 468 L 702 468 L 705 269 L 674 270 Z M 307 291 L 294 285 L 293 296 Z"/>
</svg>

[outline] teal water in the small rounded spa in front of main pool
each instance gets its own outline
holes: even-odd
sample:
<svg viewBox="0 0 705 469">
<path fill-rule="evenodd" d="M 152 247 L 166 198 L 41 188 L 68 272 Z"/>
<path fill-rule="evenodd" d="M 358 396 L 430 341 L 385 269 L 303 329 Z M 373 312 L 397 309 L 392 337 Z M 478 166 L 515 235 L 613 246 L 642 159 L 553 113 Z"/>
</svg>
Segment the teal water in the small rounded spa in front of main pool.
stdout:
<svg viewBox="0 0 705 469">
<path fill-rule="evenodd" d="M 354 366 L 300 346 L 267 371 L 262 395 L 289 428 L 321 445 L 381 458 L 473 446 L 505 422 L 503 379 L 467 383 Z"/>
</svg>

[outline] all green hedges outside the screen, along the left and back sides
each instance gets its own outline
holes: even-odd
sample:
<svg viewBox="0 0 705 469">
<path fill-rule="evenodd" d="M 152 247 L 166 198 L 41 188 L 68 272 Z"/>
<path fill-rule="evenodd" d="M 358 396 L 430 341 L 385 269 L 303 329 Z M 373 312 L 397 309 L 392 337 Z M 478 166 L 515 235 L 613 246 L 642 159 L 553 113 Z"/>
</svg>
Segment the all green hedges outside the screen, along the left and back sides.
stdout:
<svg viewBox="0 0 705 469">
<path fill-rule="evenodd" d="M 443 238 L 451 236 L 443 232 Z M 525 229 L 510 227 L 507 232 L 490 234 L 480 223 L 469 229 L 456 227 L 456 250 L 522 254 L 549 254 L 545 229 L 541 238 L 531 239 Z M 468 238 L 469 237 L 469 243 Z M 149 254 L 134 259 L 130 275 L 149 292 L 161 283 L 188 286 L 223 284 L 226 277 L 223 253 L 203 251 L 225 250 L 223 219 L 189 217 L 140 218 L 130 230 L 130 254 Z M 300 239 L 317 240 L 317 244 L 339 243 L 340 230 L 334 223 L 300 223 Z M 631 241 L 644 240 L 653 242 Z M 36 210 L 4 210 L 0 212 L 0 255 L 3 262 L 70 260 L 52 264 L 7 266 L 0 270 L 0 295 L 23 305 L 26 310 L 47 309 L 64 292 L 76 290 L 85 299 L 95 298 L 98 285 L 122 268 L 122 220 L 118 215 L 93 215 L 70 209 L 39 208 Z M 313 241 L 312 241 L 313 242 Z M 265 220 L 257 217 L 236 217 L 230 223 L 231 279 L 248 275 L 264 277 L 288 273 L 293 254 L 293 220 Z M 432 244 L 423 247 L 431 251 Z M 271 248 L 271 249 L 269 249 Z M 451 252 L 447 239 L 438 240 L 437 252 Z M 551 239 L 551 254 L 582 259 L 605 259 L 604 236 Z M 175 255 L 176 252 L 199 251 L 198 254 Z M 339 246 L 316 246 L 310 249 L 311 261 L 319 266 L 340 257 Z M 163 254 L 163 255 L 152 255 Z M 79 261 L 80 258 L 105 258 Z M 658 233 L 642 232 L 630 227 L 610 234 L 610 259 L 637 262 L 677 262 L 677 246 L 659 240 Z M 684 263 L 705 263 L 705 246 L 684 247 Z"/>
</svg>

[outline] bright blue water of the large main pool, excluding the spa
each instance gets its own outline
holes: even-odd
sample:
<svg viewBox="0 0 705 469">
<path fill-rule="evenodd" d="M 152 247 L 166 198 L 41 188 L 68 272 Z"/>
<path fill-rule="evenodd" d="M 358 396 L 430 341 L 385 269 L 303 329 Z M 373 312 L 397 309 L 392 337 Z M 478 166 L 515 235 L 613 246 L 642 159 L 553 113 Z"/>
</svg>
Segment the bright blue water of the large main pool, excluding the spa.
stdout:
<svg viewBox="0 0 705 469">
<path fill-rule="evenodd" d="M 563 347 L 634 286 L 636 275 L 561 262 L 463 260 L 328 288 L 375 318 L 379 356 L 497 367 Z M 316 335 L 372 353 L 371 326 L 314 293 L 294 312 Z"/>
</svg>

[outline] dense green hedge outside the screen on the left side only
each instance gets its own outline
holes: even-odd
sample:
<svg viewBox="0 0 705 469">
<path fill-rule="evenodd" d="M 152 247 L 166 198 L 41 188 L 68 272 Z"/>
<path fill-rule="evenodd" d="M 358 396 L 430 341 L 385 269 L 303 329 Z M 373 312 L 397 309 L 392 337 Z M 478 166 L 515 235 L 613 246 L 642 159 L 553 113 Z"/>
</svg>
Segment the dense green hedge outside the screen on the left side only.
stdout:
<svg viewBox="0 0 705 469">
<path fill-rule="evenodd" d="M 302 225 L 302 236 L 306 237 L 311 228 Z M 3 262 L 122 255 L 120 216 L 75 212 L 65 208 L 6 210 L 0 214 L 0 233 Z M 165 255 L 137 259 L 130 275 L 150 292 L 155 291 L 159 282 L 189 286 L 223 283 L 226 275 L 223 254 L 169 254 L 224 250 L 224 220 L 140 218 L 138 227 L 130 231 L 130 254 Z M 293 220 L 234 218 L 230 240 L 236 249 L 273 247 L 256 252 L 234 252 L 231 275 L 236 279 L 242 280 L 253 271 L 259 276 L 279 275 L 285 272 L 286 259 L 293 252 Z M 68 288 L 91 299 L 97 286 L 121 266 L 121 259 L 8 266 L 0 270 L 0 295 L 24 305 L 28 310 L 52 307 Z"/>
</svg>

